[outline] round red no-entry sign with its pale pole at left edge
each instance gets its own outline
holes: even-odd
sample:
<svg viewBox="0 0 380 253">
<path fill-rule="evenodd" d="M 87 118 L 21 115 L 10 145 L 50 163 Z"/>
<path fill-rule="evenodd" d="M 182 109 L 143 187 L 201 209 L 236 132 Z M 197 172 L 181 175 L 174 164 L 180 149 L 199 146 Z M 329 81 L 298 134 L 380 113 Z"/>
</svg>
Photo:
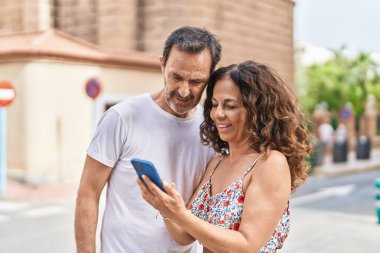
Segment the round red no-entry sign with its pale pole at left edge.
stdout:
<svg viewBox="0 0 380 253">
<path fill-rule="evenodd" d="M 16 97 L 9 82 L 0 82 L 0 195 L 7 189 L 7 109 Z"/>
</svg>

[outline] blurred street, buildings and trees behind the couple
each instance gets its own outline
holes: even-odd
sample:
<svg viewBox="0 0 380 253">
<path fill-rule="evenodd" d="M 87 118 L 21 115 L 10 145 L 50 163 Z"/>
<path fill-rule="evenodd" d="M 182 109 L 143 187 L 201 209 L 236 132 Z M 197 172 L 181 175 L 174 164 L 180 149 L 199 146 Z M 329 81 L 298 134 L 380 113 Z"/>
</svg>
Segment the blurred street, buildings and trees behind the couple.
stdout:
<svg viewBox="0 0 380 253">
<path fill-rule="evenodd" d="M 274 68 L 310 122 L 310 177 L 280 252 L 377 251 L 379 15 L 376 0 L 0 0 L 0 252 L 75 252 L 96 122 L 163 86 L 158 57 L 181 25 L 220 38 L 219 66 Z"/>
</svg>

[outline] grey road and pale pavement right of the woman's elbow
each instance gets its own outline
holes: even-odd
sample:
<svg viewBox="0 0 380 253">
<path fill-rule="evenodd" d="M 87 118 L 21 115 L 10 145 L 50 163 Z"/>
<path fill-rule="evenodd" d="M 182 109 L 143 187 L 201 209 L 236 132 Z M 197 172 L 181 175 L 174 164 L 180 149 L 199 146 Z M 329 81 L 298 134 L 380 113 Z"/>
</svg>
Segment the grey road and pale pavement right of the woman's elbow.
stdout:
<svg viewBox="0 0 380 253">
<path fill-rule="evenodd" d="M 281 253 L 377 252 L 375 179 L 380 170 L 311 177 L 291 199 L 289 238 Z"/>
</svg>

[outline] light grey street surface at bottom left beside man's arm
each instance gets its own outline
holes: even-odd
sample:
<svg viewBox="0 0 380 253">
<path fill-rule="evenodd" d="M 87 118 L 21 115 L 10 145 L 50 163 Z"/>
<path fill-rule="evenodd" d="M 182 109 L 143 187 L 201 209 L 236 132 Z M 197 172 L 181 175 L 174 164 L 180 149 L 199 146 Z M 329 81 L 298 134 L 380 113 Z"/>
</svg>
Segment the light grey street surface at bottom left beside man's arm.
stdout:
<svg viewBox="0 0 380 253">
<path fill-rule="evenodd" d="M 75 252 L 74 203 L 0 202 L 0 253 Z"/>
</svg>

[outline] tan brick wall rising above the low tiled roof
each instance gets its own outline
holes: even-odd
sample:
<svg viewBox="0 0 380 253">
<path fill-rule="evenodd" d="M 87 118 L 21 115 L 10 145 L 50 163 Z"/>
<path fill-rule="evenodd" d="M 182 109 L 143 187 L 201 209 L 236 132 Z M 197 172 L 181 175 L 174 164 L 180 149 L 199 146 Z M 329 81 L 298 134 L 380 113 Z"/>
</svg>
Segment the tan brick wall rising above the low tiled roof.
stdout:
<svg viewBox="0 0 380 253">
<path fill-rule="evenodd" d="M 157 55 L 178 26 L 205 27 L 221 39 L 221 65 L 252 59 L 294 82 L 293 0 L 0 0 L 0 6 L 3 34 L 51 26 L 108 49 Z"/>
</svg>

